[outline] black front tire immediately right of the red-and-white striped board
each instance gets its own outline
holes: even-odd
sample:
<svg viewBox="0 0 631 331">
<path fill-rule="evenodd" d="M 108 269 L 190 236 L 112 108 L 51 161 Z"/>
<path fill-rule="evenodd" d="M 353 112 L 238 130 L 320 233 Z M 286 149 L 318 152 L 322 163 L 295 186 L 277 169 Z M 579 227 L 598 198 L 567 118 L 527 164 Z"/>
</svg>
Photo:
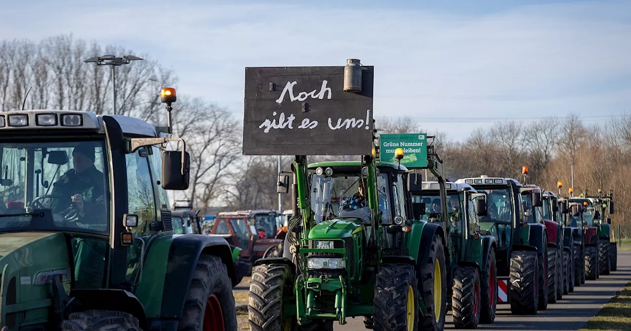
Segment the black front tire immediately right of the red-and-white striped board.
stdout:
<svg viewBox="0 0 631 331">
<path fill-rule="evenodd" d="M 510 254 L 509 303 L 515 315 L 536 315 L 538 311 L 539 262 L 537 252 L 522 250 Z"/>
</svg>

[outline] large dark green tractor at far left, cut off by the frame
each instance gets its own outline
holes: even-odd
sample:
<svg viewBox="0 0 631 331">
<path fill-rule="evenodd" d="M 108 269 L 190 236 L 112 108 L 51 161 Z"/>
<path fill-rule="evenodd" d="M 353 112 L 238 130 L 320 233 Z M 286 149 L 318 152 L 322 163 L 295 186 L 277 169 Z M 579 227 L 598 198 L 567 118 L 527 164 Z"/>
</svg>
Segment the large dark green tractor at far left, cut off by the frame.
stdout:
<svg viewBox="0 0 631 331">
<path fill-rule="evenodd" d="M 173 235 L 184 141 L 122 115 L 0 115 L 0 328 L 237 330 L 230 247 Z M 168 142 L 182 143 L 167 151 Z"/>
</svg>

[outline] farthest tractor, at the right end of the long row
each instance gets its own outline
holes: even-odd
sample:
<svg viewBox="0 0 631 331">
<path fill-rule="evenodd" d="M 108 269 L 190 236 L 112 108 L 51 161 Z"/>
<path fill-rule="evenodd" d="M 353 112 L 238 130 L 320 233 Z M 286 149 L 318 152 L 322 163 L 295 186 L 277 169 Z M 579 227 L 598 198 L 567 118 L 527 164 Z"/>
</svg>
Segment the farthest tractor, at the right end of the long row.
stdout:
<svg viewBox="0 0 631 331">
<path fill-rule="evenodd" d="M 598 233 L 598 265 L 599 275 L 608 275 L 611 272 L 611 261 L 615 254 L 615 262 L 617 262 L 617 247 L 615 241 L 611 243 L 611 218 L 607 217 L 604 221 L 606 212 L 613 214 L 613 191 L 609 191 L 603 196 L 602 190 L 598 190 L 598 196 L 589 196 L 587 190 L 584 190 L 578 198 L 572 200 L 584 204 L 587 200 L 587 226 L 594 226 Z M 591 221 L 591 223 L 590 223 Z M 613 248 L 613 249 L 612 249 Z M 613 250 L 613 252 L 611 252 Z M 616 263 L 617 267 L 617 263 Z"/>
</svg>

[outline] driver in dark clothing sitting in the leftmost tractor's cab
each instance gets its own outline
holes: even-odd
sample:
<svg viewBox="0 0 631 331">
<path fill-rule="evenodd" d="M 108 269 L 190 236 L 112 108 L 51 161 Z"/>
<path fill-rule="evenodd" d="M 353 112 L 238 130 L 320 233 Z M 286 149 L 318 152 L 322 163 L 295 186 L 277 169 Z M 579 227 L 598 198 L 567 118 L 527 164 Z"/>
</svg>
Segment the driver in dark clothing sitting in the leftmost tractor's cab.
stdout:
<svg viewBox="0 0 631 331">
<path fill-rule="evenodd" d="M 103 173 L 97 170 L 95 146 L 80 142 L 73 150 L 74 168 L 66 171 L 54 183 L 52 195 L 64 199 L 57 203 L 55 212 L 76 215 L 71 221 L 83 224 L 105 224 L 105 184 Z"/>
</svg>

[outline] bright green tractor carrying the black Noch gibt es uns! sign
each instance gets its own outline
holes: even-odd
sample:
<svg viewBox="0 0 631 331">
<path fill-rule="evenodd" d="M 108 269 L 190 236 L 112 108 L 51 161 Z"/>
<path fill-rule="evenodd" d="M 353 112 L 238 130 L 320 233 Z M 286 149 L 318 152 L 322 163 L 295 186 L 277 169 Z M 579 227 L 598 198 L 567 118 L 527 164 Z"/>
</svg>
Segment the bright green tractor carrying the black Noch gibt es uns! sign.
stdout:
<svg viewBox="0 0 631 331">
<path fill-rule="evenodd" d="M 333 330 L 351 316 L 375 330 L 444 328 L 445 230 L 420 220 L 406 167 L 375 157 L 373 73 L 355 59 L 245 69 L 244 154 L 294 155 L 278 192 L 291 175 L 297 202 L 283 256 L 254 262 L 252 330 Z M 360 160 L 307 163 L 315 155 Z"/>
</svg>

